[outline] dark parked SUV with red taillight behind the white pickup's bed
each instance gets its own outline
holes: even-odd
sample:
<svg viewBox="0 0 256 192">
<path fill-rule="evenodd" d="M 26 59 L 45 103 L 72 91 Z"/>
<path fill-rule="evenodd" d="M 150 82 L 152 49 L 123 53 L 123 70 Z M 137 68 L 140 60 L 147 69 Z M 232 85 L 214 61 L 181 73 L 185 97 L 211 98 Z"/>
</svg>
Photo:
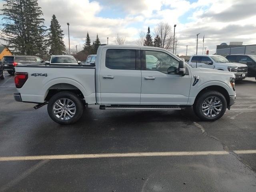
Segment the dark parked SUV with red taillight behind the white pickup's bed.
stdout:
<svg viewBox="0 0 256 192">
<path fill-rule="evenodd" d="M 4 56 L 2 59 L 4 64 L 4 70 L 6 70 L 10 75 L 14 75 L 14 67 L 16 65 L 34 65 L 42 64 L 44 60 L 37 56 L 28 56 L 28 55 L 12 55 Z"/>
</svg>

